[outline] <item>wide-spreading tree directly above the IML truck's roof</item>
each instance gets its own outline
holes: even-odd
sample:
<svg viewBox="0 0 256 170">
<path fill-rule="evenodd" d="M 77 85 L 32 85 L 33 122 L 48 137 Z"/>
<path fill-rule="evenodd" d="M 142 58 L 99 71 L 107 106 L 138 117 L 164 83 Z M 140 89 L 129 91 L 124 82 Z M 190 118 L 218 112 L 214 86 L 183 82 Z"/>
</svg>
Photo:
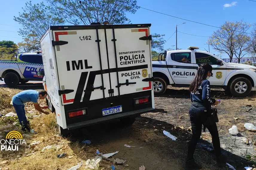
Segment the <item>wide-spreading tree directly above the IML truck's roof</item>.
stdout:
<svg viewBox="0 0 256 170">
<path fill-rule="evenodd" d="M 92 22 L 108 21 L 109 24 L 125 24 L 130 20 L 127 13 L 134 14 L 138 9 L 136 0 L 47 0 L 55 8 L 55 15 L 60 15 L 70 24 L 89 25 Z"/>
</svg>

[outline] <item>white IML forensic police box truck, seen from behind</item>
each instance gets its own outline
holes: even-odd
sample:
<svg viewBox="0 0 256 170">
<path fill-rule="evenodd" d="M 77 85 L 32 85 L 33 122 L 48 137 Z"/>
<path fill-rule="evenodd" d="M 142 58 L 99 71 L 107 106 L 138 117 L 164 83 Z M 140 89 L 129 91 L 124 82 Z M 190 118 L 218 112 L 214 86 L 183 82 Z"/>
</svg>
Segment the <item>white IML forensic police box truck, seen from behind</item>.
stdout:
<svg viewBox="0 0 256 170">
<path fill-rule="evenodd" d="M 40 40 L 60 134 L 154 110 L 151 24 L 51 26 Z"/>
</svg>

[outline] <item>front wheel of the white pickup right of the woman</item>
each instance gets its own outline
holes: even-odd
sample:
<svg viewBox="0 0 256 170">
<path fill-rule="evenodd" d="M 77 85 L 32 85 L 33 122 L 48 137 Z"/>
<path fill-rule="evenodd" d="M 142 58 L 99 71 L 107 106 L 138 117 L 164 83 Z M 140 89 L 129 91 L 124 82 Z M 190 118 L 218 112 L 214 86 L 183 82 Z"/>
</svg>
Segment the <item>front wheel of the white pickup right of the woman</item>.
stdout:
<svg viewBox="0 0 256 170">
<path fill-rule="evenodd" d="M 234 78 L 230 83 L 230 92 L 235 97 L 246 97 L 252 90 L 252 83 L 244 77 Z"/>
</svg>

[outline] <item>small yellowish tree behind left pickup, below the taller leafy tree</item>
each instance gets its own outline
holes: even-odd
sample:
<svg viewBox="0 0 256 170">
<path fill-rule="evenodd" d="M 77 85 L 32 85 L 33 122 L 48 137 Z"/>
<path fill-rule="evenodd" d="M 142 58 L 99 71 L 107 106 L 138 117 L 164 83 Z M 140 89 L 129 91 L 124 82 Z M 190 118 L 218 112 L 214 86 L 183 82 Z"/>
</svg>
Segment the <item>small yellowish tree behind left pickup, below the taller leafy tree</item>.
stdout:
<svg viewBox="0 0 256 170">
<path fill-rule="evenodd" d="M 23 38 L 23 41 L 18 43 L 19 52 L 35 52 L 41 50 L 40 42 L 36 35 L 28 35 L 28 37 Z"/>
</svg>

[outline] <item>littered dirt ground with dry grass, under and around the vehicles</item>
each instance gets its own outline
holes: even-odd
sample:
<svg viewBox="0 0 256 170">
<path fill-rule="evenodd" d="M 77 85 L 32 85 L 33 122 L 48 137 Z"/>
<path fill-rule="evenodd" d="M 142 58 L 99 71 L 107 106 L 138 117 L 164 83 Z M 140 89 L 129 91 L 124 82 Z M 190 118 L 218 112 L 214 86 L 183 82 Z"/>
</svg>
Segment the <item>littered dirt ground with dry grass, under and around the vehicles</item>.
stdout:
<svg viewBox="0 0 256 170">
<path fill-rule="evenodd" d="M 221 147 L 223 152 L 228 155 L 228 163 L 237 170 L 244 170 L 245 166 L 254 167 L 252 161 L 255 160 L 256 155 L 256 146 L 254 145 L 256 134 L 245 129 L 243 125 L 244 123 L 256 125 L 255 89 L 246 98 L 227 96 L 220 89 L 213 89 L 212 92 L 215 98 L 221 99 L 217 106 L 219 117 L 217 126 Z M 28 144 L 31 145 L 33 140 L 41 141 L 41 143 L 35 148 L 27 147 L 26 151 L 20 151 L 19 159 L 14 157 L 14 154 L 0 153 L 0 168 L 2 168 L 1 170 L 6 168 L 10 170 L 64 170 L 83 161 L 83 165 L 80 167 L 83 170 L 86 160 L 93 159 L 98 149 L 103 154 L 119 151 L 110 159 L 126 160 L 124 165 L 128 164 L 128 166 L 115 164 L 115 169 L 118 170 L 138 170 L 142 165 L 146 167 L 146 170 L 181 170 L 184 169 L 188 141 L 192 135 L 188 116 L 190 105 L 189 92 L 186 88 L 168 87 L 165 95 L 155 96 L 156 111 L 142 114 L 132 126 L 123 127 L 118 120 L 115 120 L 78 129 L 69 138 L 56 135 L 54 114 L 32 118 L 31 124 L 38 134 L 28 134 L 32 138 L 28 140 Z M 26 109 L 29 111 L 31 107 L 27 106 Z M 39 113 L 35 114 L 39 115 Z M 10 123 L 14 121 L 10 120 L 9 125 L 8 123 L 1 124 L 1 134 L 6 128 L 13 130 Z M 233 125 L 238 127 L 239 135 L 229 134 L 228 129 Z M 173 141 L 164 136 L 163 130 L 176 136 L 177 140 Z M 246 139 L 249 141 L 249 145 L 246 144 Z M 84 145 L 82 144 L 83 140 L 91 140 L 92 143 Z M 43 147 L 54 144 L 61 144 L 63 150 L 40 152 Z M 128 148 L 124 146 L 125 144 L 135 147 Z M 202 132 L 201 140 L 194 154 L 195 160 L 203 165 L 203 169 L 230 169 L 228 166 L 217 168 L 214 154 L 203 150 L 202 146 L 212 147 L 211 135 L 208 130 Z M 56 158 L 56 154 L 62 152 L 74 157 Z M 1 164 L 4 160 L 9 160 L 9 162 Z M 40 164 L 35 164 L 33 161 L 40 161 Z M 102 160 L 99 169 L 110 170 L 112 165 L 112 161 Z"/>
</svg>

